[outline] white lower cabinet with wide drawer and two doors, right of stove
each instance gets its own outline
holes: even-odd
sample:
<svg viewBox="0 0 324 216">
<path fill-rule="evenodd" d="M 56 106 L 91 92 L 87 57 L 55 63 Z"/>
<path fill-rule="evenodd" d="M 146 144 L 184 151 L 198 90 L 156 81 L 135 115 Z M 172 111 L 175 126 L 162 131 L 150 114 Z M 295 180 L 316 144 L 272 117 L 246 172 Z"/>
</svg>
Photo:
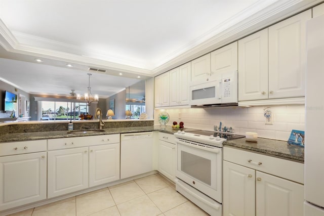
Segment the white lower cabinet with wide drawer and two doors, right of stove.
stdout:
<svg viewBox="0 0 324 216">
<path fill-rule="evenodd" d="M 229 151 L 226 151 L 229 150 Z M 230 154 L 230 155 L 228 155 Z M 237 155 L 246 157 L 246 161 L 239 162 Z M 236 156 L 235 156 L 236 155 Z M 254 153 L 224 148 L 224 160 L 235 158 L 233 161 L 223 161 L 223 213 L 225 215 L 268 215 L 268 216 L 303 216 L 304 186 L 289 179 L 277 177 L 280 171 L 267 174 L 258 169 L 285 169 L 285 159 L 269 156 L 264 161 L 254 158 Z M 270 162 L 268 164 L 268 162 Z M 290 170 L 286 172 L 302 172 L 300 163 L 292 162 Z M 294 164 L 296 166 L 294 167 Z M 247 167 L 251 166 L 251 167 Z M 252 168 L 255 166 L 255 168 Z M 295 174 L 293 174 L 295 175 Z M 292 176 L 293 176 L 292 175 Z"/>
</svg>

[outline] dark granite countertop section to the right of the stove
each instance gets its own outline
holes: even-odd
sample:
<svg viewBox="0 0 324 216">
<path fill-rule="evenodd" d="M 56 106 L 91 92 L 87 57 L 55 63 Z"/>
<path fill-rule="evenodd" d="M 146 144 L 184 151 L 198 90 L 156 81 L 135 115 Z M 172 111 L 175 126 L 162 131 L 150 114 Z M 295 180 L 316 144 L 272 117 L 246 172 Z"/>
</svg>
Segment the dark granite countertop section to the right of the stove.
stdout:
<svg viewBox="0 0 324 216">
<path fill-rule="evenodd" d="M 258 138 L 257 142 L 249 142 L 245 138 L 240 138 L 226 141 L 224 146 L 233 146 L 268 156 L 304 162 L 304 147 L 289 145 L 286 141 Z"/>
</svg>

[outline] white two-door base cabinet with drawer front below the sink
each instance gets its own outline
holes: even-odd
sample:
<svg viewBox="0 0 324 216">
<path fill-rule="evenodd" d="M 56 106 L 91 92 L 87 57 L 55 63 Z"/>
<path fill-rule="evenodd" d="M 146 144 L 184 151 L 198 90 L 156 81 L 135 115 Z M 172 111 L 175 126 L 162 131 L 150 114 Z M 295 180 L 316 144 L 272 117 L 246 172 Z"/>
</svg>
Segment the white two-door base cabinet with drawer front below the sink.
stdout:
<svg viewBox="0 0 324 216">
<path fill-rule="evenodd" d="M 119 134 L 48 140 L 48 198 L 119 179 Z"/>
</svg>

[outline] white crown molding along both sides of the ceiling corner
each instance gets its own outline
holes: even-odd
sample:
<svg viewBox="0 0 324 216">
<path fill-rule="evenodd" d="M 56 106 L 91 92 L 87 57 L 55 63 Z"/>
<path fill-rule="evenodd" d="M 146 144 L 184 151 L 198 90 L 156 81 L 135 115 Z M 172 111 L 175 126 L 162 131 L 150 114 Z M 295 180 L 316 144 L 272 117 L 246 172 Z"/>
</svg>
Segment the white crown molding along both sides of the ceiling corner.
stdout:
<svg viewBox="0 0 324 216">
<path fill-rule="evenodd" d="M 221 25 L 216 26 L 209 32 L 166 56 L 159 63 L 155 63 L 153 69 L 145 69 L 143 62 L 138 63 L 119 56 L 109 56 L 107 53 L 96 50 L 82 49 L 54 40 L 11 32 L 1 19 L 0 45 L 7 52 L 152 77 L 297 14 L 319 4 L 322 0 L 277 0 L 272 4 L 265 2 L 267 1 L 258 1 L 249 9 L 224 21 Z M 244 17 L 244 20 L 240 21 L 239 17 Z M 62 51 L 58 51 L 58 49 Z"/>
</svg>

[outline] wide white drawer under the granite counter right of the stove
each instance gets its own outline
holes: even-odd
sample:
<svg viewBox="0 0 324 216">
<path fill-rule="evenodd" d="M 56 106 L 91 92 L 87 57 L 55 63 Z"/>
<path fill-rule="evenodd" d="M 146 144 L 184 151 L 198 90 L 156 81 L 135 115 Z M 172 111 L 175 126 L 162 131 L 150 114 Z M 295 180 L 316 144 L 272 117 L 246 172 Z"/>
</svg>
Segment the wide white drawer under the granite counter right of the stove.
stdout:
<svg viewBox="0 0 324 216">
<path fill-rule="evenodd" d="M 224 147 L 224 160 L 304 184 L 303 163 L 227 146 Z"/>
</svg>

